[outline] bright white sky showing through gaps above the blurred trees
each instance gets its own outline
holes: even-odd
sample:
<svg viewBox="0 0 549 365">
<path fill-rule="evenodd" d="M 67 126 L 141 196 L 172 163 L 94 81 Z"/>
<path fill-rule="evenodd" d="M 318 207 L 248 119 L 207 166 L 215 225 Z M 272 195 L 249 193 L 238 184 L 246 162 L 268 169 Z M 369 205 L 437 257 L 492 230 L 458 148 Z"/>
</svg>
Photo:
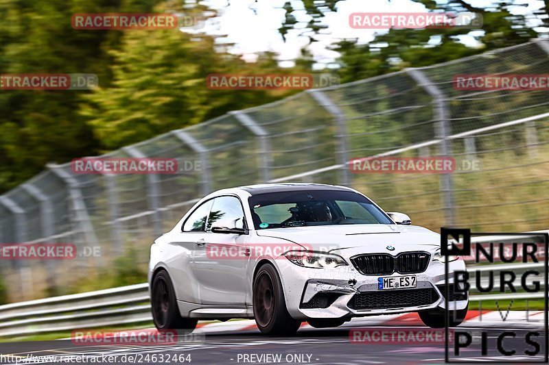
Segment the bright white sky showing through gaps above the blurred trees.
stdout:
<svg viewBox="0 0 549 365">
<path fill-rule="evenodd" d="M 349 27 L 349 14 L 353 12 L 427 12 L 425 7 L 410 0 L 344 0 L 337 3 L 337 11 L 325 14 L 323 23 L 327 29 L 323 30 L 316 39 L 318 42 L 309 44 L 309 37 L 304 34 L 303 28 L 310 20 L 299 0 L 291 1 L 295 12 L 293 15 L 302 29 L 293 29 L 286 35 L 284 41 L 279 28 L 284 21 L 285 10 L 282 6 L 288 0 L 202 0 L 200 4 L 218 10 L 219 16 L 207 21 L 204 29 L 196 32 L 219 36 L 218 42 L 234 44 L 229 51 L 242 55 L 244 60 L 253 62 L 258 52 L 271 51 L 279 55 L 280 66 L 291 67 L 293 60 L 299 57 L 301 49 L 307 47 L 317 62 L 316 68 L 336 66 L 334 61 L 338 57 L 336 51 L 330 49 L 334 42 L 345 38 L 358 38 L 360 43 L 368 43 L 380 32 L 379 29 L 352 29 Z M 437 0 L 441 1 L 441 0 Z M 513 0 L 511 0 L 513 1 Z M 468 3 L 478 8 L 489 8 L 491 0 L 469 0 Z M 541 0 L 514 0 L 513 3 L 526 6 L 515 7 L 511 10 L 516 14 L 528 14 L 541 8 Z M 537 25 L 535 20 L 532 23 Z M 189 32 L 189 30 L 185 30 Z M 191 31 L 192 32 L 192 31 Z M 474 38 L 475 33 L 462 36 L 460 42 L 470 47 L 478 47 Z M 432 39 L 432 42 L 436 42 Z"/>
</svg>

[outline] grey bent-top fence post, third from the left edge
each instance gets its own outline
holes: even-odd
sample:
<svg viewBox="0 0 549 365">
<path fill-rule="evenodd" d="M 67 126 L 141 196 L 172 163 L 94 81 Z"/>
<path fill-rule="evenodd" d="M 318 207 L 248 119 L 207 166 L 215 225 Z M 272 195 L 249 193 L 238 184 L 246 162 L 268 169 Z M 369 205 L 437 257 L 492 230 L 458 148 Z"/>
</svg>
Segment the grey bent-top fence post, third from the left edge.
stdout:
<svg viewBox="0 0 549 365">
<path fill-rule="evenodd" d="M 97 245 L 97 236 L 95 236 L 95 229 L 93 229 L 93 224 L 91 223 L 88 210 L 86 209 L 86 203 L 84 203 L 84 197 L 82 197 L 82 192 L 80 191 L 80 184 L 78 184 L 78 181 L 60 165 L 47 164 L 47 168 L 57 177 L 62 179 L 62 181 L 65 181 L 65 184 L 69 188 L 69 197 L 71 198 L 75 220 L 78 225 L 80 225 L 86 244 L 92 246 Z"/>
</svg>

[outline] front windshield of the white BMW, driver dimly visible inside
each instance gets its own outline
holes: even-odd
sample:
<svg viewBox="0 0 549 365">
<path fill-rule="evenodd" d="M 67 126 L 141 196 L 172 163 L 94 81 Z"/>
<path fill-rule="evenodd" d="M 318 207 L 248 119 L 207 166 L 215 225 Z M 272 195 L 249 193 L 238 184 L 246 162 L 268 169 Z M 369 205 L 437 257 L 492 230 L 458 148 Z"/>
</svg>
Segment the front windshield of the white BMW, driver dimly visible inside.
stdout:
<svg viewBox="0 0 549 365">
<path fill-rule="evenodd" d="M 248 202 L 255 229 L 394 224 L 369 199 L 351 191 L 270 192 L 255 194 Z"/>
</svg>

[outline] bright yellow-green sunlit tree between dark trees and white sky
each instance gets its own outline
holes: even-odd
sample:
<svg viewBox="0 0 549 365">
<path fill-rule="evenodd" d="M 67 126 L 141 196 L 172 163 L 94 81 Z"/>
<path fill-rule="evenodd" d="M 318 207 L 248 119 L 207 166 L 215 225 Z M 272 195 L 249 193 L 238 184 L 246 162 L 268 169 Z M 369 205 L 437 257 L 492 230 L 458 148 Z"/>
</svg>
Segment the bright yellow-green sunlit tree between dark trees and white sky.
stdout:
<svg viewBox="0 0 549 365">
<path fill-rule="evenodd" d="M 266 91 L 210 90 L 211 73 L 269 73 L 271 56 L 246 65 L 221 55 L 213 38 L 173 29 L 128 32 L 112 51 L 113 81 L 95 90 L 82 108 L 102 149 L 117 149 L 239 108 L 272 101 Z M 145 55 L 145 56 L 144 56 Z"/>
</svg>

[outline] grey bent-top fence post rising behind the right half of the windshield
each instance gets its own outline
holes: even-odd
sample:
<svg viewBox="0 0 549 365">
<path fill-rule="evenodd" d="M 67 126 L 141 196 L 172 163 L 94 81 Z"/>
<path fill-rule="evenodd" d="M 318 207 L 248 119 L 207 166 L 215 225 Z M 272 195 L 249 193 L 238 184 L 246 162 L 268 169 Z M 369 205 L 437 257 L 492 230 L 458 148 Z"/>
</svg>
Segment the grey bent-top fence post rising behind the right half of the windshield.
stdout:
<svg viewBox="0 0 549 365">
<path fill-rule="evenodd" d="M 349 167 L 347 166 L 349 163 L 349 155 L 347 154 L 347 151 L 349 151 L 347 143 L 347 118 L 345 118 L 345 114 L 339 106 L 324 92 L 315 89 L 307 90 L 307 92 L 313 97 L 318 105 L 322 106 L 331 114 L 334 121 L 336 121 L 336 127 L 338 128 L 338 136 L 336 136 L 338 140 L 338 149 L 336 153 L 338 154 L 338 163 L 342 165 L 339 170 L 339 179 L 340 184 L 349 186 L 351 184 L 351 178 L 349 176 Z"/>
</svg>

